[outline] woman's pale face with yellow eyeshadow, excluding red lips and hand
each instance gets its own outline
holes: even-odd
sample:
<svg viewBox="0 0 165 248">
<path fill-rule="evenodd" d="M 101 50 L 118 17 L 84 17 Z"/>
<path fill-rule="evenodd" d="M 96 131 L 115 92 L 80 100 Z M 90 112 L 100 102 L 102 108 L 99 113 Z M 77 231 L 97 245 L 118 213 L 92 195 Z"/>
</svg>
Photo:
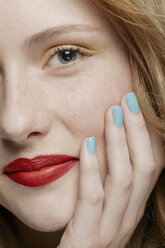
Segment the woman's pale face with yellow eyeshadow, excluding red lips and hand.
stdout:
<svg viewBox="0 0 165 248">
<path fill-rule="evenodd" d="M 0 204 L 35 230 L 56 231 L 74 213 L 79 163 L 34 188 L 15 183 L 2 170 L 20 157 L 79 158 L 83 139 L 95 136 L 104 184 L 104 117 L 132 90 L 127 55 L 88 0 L 1 0 L 0 5 Z M 26 39 L 50 28 L 56 30 L 53 36 L 27 46 Z M 58 54 L 52 57 L 50 51 L 66 45 L 80 47 L 84 56 L 77 53 L 67 63 Z"/>
</svg>

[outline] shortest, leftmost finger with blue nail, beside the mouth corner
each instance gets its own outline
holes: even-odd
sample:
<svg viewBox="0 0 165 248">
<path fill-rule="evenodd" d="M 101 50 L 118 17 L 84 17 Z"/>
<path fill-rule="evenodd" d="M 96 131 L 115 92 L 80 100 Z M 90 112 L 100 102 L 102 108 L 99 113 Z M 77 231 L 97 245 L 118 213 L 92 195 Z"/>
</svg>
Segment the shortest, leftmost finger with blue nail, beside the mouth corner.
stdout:
<svg viewBox="0 0 165 248">
<path fill-rule="evenodd" d="M 89 242 L 99 232 L 104 191 L 98 170 L 95 137 L 85 139 L 80 152 L 79 196 L 72 229 L 85 242 Z M 92 154 L 88 151 L 92 152 Z M 85 245 L 85 244 L 84 244 Z"/>
</svg>

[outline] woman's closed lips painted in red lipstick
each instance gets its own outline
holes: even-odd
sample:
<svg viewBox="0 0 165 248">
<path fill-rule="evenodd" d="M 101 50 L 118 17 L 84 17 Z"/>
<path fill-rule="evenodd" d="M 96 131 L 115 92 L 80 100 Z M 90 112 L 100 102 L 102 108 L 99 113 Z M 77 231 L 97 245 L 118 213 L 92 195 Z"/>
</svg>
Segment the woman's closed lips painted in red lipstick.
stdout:
<svg viewBox="0 0 165 248">
<path fill-rule="evenodd" d="M 18 158 L 4 167 L 3 173 L 16 183 L 39 187 L 57 180 L 79 161 L 67 155 Z"/>
</svg>

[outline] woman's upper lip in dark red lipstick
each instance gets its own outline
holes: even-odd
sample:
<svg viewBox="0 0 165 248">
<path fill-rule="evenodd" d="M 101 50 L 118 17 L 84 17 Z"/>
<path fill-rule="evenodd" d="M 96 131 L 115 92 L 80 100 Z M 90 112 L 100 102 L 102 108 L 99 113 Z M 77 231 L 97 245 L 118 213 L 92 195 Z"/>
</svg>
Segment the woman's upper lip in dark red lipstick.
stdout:
<svg viewBox="0 0 165 248">
<path fill-rule="evenodd" d="M 40 170 L 43 167 L 62 164 L 70 160 L 78 160 L 78 158 L 68 155 L 42 155 L 32 159 L 18 158 L 3 169 L 3 173 L 12 173 L 16 171 L 35 171 Z"/>
</svg>

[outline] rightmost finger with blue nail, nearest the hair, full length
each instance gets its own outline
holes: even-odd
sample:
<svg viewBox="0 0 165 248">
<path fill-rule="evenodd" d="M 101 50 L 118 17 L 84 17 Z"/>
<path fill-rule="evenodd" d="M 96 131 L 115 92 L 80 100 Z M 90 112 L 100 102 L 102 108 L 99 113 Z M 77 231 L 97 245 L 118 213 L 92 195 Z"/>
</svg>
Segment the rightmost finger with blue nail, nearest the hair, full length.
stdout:
<svg viewBox="0 0 165 248">
<path fill-rule="evenodd" d="M 130 93 L 126 98 L 123 97 L 121 105 L 124 111 L 124 126 L 134 172 L 132 196 L 123 219 L 122 229 L 126 232 L 129 229 L 131 232 L 139 221 L 137 217 L 140 216 L 140 209 L 144 209 L 157 181 L 158 173 L 148 129 L 135 94 Z"/>
</svg>

